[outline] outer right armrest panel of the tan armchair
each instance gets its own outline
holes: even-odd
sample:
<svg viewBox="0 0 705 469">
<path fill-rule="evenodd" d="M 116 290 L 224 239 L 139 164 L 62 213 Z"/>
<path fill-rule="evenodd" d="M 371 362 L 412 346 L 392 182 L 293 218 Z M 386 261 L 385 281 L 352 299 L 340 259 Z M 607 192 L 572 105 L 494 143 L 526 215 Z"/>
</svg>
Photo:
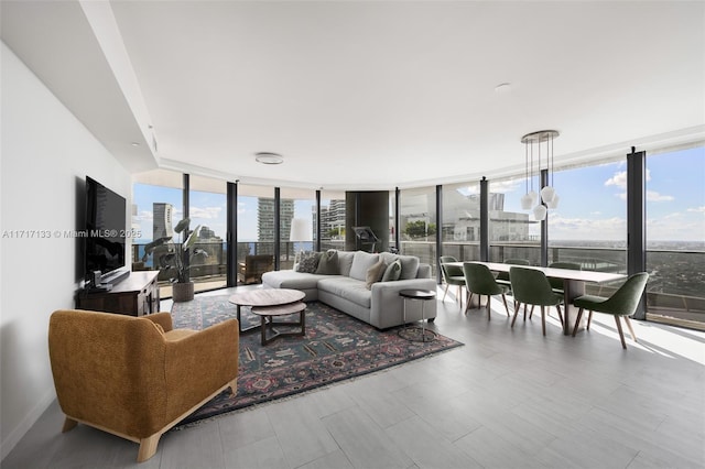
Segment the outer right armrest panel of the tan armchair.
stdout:
<svg viewBox="0 0 705 469">
<path fill-rule="evenodd" d="M 237 319 L 228 319 L 175 340 L 165 340 L 167 412 L 206 399 L 215 389 L 238 375 L 239 331 Z"/>
</svg>

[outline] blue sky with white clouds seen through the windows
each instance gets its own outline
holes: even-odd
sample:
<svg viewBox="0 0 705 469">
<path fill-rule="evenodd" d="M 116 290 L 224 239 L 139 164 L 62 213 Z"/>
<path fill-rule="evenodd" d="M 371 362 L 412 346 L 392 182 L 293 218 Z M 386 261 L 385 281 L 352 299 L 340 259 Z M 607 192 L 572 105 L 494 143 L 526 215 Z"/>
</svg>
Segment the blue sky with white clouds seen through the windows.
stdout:
<svg viewBox="0 0 705 469">
<path fill-rule="evenodd" d="M 626 160 L 596 166 L 557 171 L 553 186 L 558 207 L 549 211 L 549 236 L 553 240 L 625 241 L 627 233 Z M 475 189 L 477 185 L 474 185 Z M 538 184 L 534 182 L 534 189 Z M 491 192 L 505 193 L 505 210 L 524 211 L 520 199 L 525 179 L 495 183 Z M 273 190 L 272 190 L 273 193 Z M 181 189 L 134 184 L 133 217 L 141 240 L 152 238 L 152 201 L 174 206 L 174 223 L 181 211 Z M 295 217 L 308 218 L 311 200 L 295 201 Z M 403 190 L 402 190 L 403 204 Z M 225 239 L 225 194 L 192 192 L 192 229 L 209 227 Z M 257 240 L 257 198 L 238 201 L 239 241 Z M 534 225 L 535 227 L 536 225 Z M 699 241 L 705 248 L 705 148 L 662 153 L 647 157 L 647 239 L 650 241 Z"/>
</svg>

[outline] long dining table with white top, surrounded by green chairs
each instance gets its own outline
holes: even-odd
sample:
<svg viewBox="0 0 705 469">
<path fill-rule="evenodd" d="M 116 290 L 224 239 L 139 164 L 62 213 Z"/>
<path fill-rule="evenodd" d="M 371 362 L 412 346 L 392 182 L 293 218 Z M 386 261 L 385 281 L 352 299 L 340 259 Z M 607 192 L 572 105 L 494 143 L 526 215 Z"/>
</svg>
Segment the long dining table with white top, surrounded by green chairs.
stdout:
<svg viewBox="0 0 705 469">
<path fill-rule="evenodd" d="M 575 326 L 575 319 L 577 318 L 578 308 L 573 306 L 573 299 L 581 295 L 585 295 L 585 285 L 588 283 L 604 284 L 627 279 L 627 275 L 616 272 L 597 272 L 597 271 L 583 271 L 574 269 L 558 269 L 558 268 L 542 268 L 535 265 L 514 265 L 506 264 L 502 262 L 484 262 L 484 261 L 466 261 L 474 262 L 476 264 L 487 265 L 492 272 L 509 272 L 512 266 L 521 266 L 524 269 L 535 269 L 543 272 L 547 277 L 563 280 L 563 334 L 570 336 L 573 334 L 573 327 Z M 449 262 L 449 264 L 458 265 L 463 268 L 464 262 Z M 584 329 L 585 319 L 578 325 L 578 330 Z"/>
</svg>

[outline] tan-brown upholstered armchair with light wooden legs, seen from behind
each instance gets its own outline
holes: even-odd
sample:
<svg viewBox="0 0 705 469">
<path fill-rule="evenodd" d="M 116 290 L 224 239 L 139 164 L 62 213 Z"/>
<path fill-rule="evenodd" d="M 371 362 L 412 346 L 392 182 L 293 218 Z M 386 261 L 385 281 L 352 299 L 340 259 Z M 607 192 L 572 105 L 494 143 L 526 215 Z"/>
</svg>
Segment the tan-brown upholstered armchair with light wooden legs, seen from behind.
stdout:
<svg viewBox="0 0 705 469">
<path fill-rule="evenodd" d="M 236 392 L 237 319 L 204 330 L 173 329 L 169 313 L 132 317 L 57 310 L 48 352 L 67 432 L 78 423 L 140 444 L 160 437 L 227 388 Z"/>
</svg>

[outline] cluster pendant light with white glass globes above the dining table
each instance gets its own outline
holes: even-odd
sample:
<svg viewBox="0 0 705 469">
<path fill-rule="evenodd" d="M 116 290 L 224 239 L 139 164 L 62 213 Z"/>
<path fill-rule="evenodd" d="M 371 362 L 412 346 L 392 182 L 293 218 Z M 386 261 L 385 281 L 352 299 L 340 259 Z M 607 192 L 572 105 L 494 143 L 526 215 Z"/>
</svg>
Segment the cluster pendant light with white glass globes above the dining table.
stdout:
<svg viewBox="0 0 705 469">
<path fill-rule="evenodd" d="M 540 130 L 538 132 L 527 133 L 521 138 L 521 143 L 524 144 L 524 161 L 527 164 L 527 195 L 521 198 L 521 208 L 528 210 L 533 207 L 533 216 L 536 220 L 544 220 L 546 218 L 546 207 L 556 208 L 558 206 L 558 195 L 553 188 L 553 173 L 555 167 L 553 166 L 553 140 L 558 137 L 557 130 Z M 539 175 L 541 175 L 541 144 L 545 142 L 546 153 L 546 171 L 549 177 L 546 178 L 546 185 L 539 192 L 541 197 L 533 190 L 533 149 L 536 148 L 539 155 Z M 529 168 L 529 155 L 531 154 L 531 168 Z M 541 177 L 541 176 L 539 176 Z M 529 190 L 529 178 L 531 178 L 531 190 Z"/>
</svg>

